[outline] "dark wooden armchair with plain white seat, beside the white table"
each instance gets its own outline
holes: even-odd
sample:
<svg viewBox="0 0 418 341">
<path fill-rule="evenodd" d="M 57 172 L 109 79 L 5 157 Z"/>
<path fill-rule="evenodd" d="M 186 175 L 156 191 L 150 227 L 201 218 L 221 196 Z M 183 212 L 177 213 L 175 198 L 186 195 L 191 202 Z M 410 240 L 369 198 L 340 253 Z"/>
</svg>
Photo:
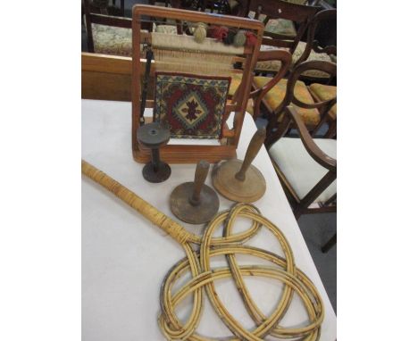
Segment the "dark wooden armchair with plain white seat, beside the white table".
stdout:
<svg viewBox="0 0 418 341">
<path fill-rule="evenodd" d="M 337 140 L 311 137 L 294 106 L 287 106 L 284 113 L 282 123 L 288 127 L 293 123 L 299 137 L 276 135 L 266 147 L 296 218 L 336 212 Z"/>
</svg>

